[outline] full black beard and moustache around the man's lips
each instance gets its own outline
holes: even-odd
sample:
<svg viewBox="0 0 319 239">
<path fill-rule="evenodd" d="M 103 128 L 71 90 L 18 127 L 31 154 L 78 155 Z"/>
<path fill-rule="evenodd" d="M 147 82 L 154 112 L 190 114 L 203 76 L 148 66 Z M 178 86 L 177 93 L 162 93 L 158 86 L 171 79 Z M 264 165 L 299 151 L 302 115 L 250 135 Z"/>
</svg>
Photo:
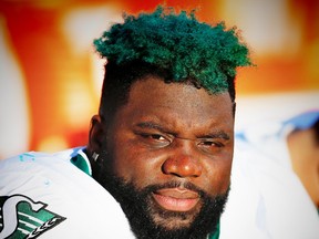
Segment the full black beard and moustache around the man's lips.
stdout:
<svg viewBox="0 0 319 239">
<path fill-rule="evenodd" d="M 182 183 L 181 180 L 150 185 L 138 189 L 133 183 L 127 183 L 114 175 L 112 160 L 107 157 L 106 153 L 100 155 L 103 164 L 95 179 L 120 202 L 136 238 L 204 239 L 216 231 L 229 188 L 225 194 L 216 197 L 209 196 L 189 181 Z M 152 197 L 153 193 L 158 189 L 181 186 L 199 195 L 200 207 L 185 212 L 169 211 L 160 207 Z"/>
</svg>

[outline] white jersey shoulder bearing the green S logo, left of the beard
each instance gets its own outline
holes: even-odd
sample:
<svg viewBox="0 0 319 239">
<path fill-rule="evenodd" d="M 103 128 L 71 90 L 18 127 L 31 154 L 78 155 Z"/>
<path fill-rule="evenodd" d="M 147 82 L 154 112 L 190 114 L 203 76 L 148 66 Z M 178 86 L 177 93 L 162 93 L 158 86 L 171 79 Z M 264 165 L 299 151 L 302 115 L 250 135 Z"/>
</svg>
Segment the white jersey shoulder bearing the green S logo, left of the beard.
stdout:
<svg viewBox="0 0 319 239">
<path fill-rule="evenodd" d="M 0 239 L 134 238 L 117 201 L 70 162 L 78 154 L 90 174 L 82 148 L 0 162 Z"/>
</svg>

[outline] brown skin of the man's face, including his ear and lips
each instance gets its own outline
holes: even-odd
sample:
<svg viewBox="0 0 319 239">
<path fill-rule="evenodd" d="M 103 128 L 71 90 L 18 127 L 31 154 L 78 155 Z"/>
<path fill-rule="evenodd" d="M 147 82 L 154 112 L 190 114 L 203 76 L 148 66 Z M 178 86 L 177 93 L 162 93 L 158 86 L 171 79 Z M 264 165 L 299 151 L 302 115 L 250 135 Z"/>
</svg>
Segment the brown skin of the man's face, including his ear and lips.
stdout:
<svg viewBox="0 0 319 239">
<path fill-rule="evenodd" d="M 150 207 L 188 212 L 183 220 L 152 215 L 167 229 L 181 228 L 202 207 L 200 196 L 187 184 L 209 196 L 223 195 L 229 187 L 233 103 L 227 92 L 213 95 L 192 84 L 167 84 L 147 76 L 133 83 L 128 102 L 117 110 L 112 125 L 93 116 L 88 149 L 106 149 L 114 174 L 138 189 L 175 183 L 153 191 Z"/>
</svg>

